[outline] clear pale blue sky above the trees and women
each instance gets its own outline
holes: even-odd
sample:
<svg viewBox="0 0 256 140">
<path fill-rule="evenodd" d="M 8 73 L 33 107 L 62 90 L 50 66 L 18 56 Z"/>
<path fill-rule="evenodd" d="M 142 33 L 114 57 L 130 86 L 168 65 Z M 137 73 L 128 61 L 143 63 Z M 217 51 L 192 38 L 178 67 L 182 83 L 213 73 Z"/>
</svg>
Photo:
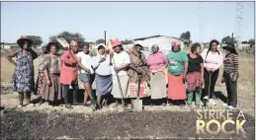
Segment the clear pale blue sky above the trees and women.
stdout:
<svg viewBox="0 0 256 140">
<path fill-rule="evenodd" d="M 254 2 L 243 2 L 241 38 L 254 38 Z M 201 12 L 200 12 L 201 11 Z M 150 35 L 179 37 L 189 31 L 193 42 L 235 36 L 236 2 L 1 2 L 1 41 L 40 35 L 48 41 L 63 31 L 86 41 Z M 203 27 L 200 34 L 200 25 Z"/>
</svg>

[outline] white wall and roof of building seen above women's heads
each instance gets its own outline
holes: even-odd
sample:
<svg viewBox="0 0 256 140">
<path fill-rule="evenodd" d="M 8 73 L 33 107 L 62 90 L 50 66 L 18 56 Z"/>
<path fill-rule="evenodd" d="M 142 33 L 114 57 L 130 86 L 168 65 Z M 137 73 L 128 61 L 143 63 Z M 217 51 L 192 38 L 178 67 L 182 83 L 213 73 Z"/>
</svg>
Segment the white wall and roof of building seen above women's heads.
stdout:
<svg viewBox="0 0 256 140">
<path fill-rule="evenodd" d="M 159 36 L 159 37 L 152 37 L 152 38 L 147 38 L 144 40 L 134 40 L 134 43 L 140 43 L 144 47 L 147 47 L 148 49 L 151 48 L 153 44 L 158 44 L 159 49 L 162 50 L 171 50 L 171 42 L 174 40 L 179 40 L 174 37 L 168 37 L 168 36 Z M 181 40 L 179 40 L 181 41 Z M 184 49 L 184 42 L 181 41 L 181 49 Z"/>
</svg>

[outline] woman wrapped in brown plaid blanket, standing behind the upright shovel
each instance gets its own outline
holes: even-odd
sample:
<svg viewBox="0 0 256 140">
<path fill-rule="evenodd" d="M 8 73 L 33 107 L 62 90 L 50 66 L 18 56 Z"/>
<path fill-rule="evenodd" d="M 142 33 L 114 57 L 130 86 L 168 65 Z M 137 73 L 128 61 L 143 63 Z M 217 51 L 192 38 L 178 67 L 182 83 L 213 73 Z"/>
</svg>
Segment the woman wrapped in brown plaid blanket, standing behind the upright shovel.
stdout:
<svg viewBox="0 0 256 140">
<path fill-rule="evenodd" d="M 129 86 L 128 97 L 131 98 L 131 106 L 133 107 L 132 99 L 137 97 L 138 82 L 140 85 L 139 97 L 146 98 L 150 96 L 149 91 L 149 74 L 145 55 L 140 52 L 142 45 L 135 44 L 129 52 L 130 65 L 128 69 Z"/>
</svg>

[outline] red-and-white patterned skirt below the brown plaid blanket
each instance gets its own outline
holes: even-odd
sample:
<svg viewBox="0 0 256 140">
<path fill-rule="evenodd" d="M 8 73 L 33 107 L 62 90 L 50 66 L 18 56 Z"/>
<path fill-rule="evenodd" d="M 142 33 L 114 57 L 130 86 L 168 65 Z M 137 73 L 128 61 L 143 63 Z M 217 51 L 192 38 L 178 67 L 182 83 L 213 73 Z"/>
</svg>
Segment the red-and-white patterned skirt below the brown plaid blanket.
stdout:
<svg viewBox="0 0 256 140">
<path fill-rule="evenodd" d="M 128 98 L 137 98 L 138 83 L 129 81 L 128 84 Z M 145 81 L 140 82 L 139 86 L 139 98 L 146 98 L 150 96 L 150 89 Z"/>
</svg>

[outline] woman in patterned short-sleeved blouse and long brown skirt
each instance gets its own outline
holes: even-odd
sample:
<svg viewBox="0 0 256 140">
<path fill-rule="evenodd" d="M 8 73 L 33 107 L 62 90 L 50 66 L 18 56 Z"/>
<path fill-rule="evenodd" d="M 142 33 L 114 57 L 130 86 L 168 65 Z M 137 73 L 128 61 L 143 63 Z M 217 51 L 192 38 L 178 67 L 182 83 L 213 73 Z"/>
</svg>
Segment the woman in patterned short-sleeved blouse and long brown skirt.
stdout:
<svg viewBox="0 0 256 140">
<path fill-rule="evenodd" d="M 43 61 L 43 84 L 42 84 L 42 100 L 49 102 L 51 105 L 57 105 L 62 100 L 62 93 L 59 84 L 60 76 L 60 59 L 56 56 L 58 45 L 55 42 L 47 44 L 47 55 Z"/>
</svg>

